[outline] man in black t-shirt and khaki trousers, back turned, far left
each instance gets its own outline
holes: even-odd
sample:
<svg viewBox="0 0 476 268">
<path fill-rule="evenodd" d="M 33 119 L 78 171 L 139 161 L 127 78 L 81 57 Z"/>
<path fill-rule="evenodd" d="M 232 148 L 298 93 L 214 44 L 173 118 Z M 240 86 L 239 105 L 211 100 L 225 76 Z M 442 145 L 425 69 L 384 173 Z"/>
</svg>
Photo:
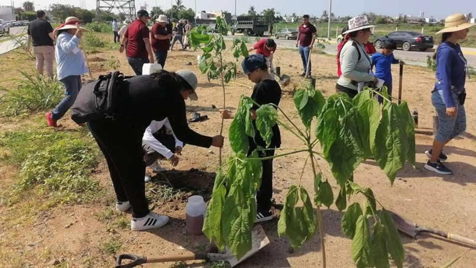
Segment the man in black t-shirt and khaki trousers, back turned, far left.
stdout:
<svg viewBox="0 0 476 268">
<path fill-rule="evenodd" d="M 36 69 L 43 75 L 43 67 L 46 65 L 48 76 L 53 78 L 53 60 L 55 58 L 55 47 L 53 45 L 53 27 L 45 20 L 45 11 L 36 11 L 38 19 L 30 22 L 27 30 L 26 51 L 30 51 L 30 43 L 33 42 L 33 53 L 36 57 Z"/>
</svg>

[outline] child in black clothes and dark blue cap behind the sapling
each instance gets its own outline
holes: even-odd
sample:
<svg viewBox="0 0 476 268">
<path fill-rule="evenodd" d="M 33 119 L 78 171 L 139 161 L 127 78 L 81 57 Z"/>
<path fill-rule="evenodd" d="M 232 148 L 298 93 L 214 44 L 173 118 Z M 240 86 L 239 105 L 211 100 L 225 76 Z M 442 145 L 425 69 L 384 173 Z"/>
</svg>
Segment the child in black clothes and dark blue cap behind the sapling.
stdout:
<svg viewBox="0 0 476 268">
<path fill-rule="evenodd" d="M 241 68 L 248 75 L 248 79 L 256 83 L 253 88 L 253 93 L 251 94 L 251 99 L 253 99 L 259 105 L 263 104 L 274 104 L 279 105 L 281 100 L 281 87 L 278 82 L 272 79 L 271 75 L 268 72 L 268 65 L 266 60 L 261 54 L 250 55 L 243 60 L 241 63 Z M 281 134 L 279 132 L 278 124 L 276 124 L 273 130 L 273 138 L 271 139 L 271 144 L 266 145 L 266 142 L 263 140 L 259 131 L 256 128 L 256 110 L 259 108 L 258 105 L 253 105 L 250 110 L 251 119 L 253 119 L 253 126 L 255 127 L 255 138 L 248 137 L 249 139 L 249 148 L 248 155 L 253 153 L 255 149 L 259 147 L 271 149 L 271 150 L 259 150 L 258 155 L 260 158 L 271 157 L 274 155 L 274 149 L 281 146 Z M 221 109 L 220 110 L 221 118 L 223 119 L 232 119 L 234 114 L 230 110 Z M 271 198 L 273 197 L 273 159 L 263 160 L 263 174 L 261 178 L 261 187 L 258 190 L 256 195 L 257 201 L 257 215 L 256 222 L 268 221 L 273 219 L 273 214 L 271 214 Z"/>
</svg>

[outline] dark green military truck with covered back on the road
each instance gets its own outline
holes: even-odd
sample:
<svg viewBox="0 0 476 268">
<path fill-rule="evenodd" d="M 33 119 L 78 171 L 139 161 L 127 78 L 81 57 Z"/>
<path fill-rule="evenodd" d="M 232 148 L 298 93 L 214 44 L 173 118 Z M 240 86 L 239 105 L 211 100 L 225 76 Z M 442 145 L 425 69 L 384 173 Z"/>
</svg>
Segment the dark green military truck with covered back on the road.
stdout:
<svg viewBox="0 0 476 268">
<path fill-rule="evenodd" d="M 231 27 L 231 34 L 243 33 L 244 36 L 263 36 L 268 30 L 269 22 L 265 16 L 247 15 L 238 16 L 236 23 Z"/>
</svg>

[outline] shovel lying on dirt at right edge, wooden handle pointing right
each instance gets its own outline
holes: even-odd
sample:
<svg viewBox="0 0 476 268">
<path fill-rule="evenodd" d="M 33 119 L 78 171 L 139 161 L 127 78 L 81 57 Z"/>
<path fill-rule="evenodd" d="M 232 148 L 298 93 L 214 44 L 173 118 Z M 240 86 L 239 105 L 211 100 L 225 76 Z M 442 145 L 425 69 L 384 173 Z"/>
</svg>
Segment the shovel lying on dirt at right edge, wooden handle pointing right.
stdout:
<svg viewBox="0 0 476 268">
<path fill-rule="evenodd" d="M 402 233 L 409 235 L 412 238 L 416 238 L 419 233 L 430 233 L 430 234 L 434 234 L 449 240 L 466 244 L 468 246 L 476 247 L 476 240 L 458 236 L 452 233 L 443 232 L 440 230 L 435 230 L 435 229 L 424 227 L 424 226 L 418 226 L 416 223 L 411 222 L 393 212 L 390 212 L 390 215 L 392 216 L 393 221 L 397 225 L 397 229 L 400 230 Z"/>
</svg>

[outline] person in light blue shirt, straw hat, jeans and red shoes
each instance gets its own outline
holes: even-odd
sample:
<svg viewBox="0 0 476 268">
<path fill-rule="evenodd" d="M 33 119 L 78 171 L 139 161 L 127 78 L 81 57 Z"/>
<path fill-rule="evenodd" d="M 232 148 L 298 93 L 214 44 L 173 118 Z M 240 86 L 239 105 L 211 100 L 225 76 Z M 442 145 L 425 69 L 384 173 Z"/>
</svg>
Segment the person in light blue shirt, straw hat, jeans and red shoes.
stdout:
<svg viewBox="0 0 476 268">
<path fill-rule="evenodd" d="M 65 97 L 52 111 L 46 114 L 48 126 L 59 127 L 57 121 L 73 105 L 81 88 L 81 75 L 88 72 L 83 54 L 79 50 L 79 41 L 86 29 L 80 27 L 76 17 L 68 17 L 65 22 L 53 30 L 56 37 L 55 58 L 57 76 L 64 84 Z"/>
</svg>

